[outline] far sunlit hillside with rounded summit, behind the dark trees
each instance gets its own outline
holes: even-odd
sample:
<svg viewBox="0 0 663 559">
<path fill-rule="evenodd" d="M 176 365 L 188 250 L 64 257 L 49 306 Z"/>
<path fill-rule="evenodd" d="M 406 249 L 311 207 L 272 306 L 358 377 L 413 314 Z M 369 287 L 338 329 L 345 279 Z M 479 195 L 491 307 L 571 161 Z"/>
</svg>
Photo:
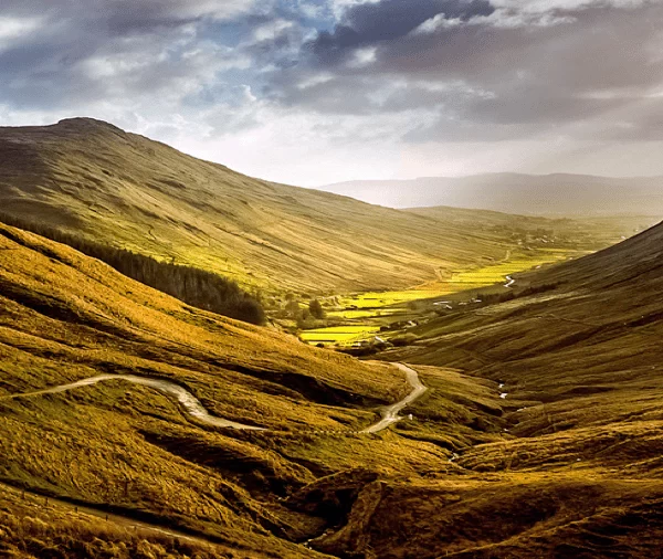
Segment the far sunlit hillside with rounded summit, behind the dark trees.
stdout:
<svg viewBox="0 0 663 559">
<path fill-rule="evenodd" d="M 440 268 L 502 259 L 508 241 L 253 179 L 92 119 L 0 128 L 0 203 L 12 215 L 270 288 L 410 286 Z"/>
</svg>

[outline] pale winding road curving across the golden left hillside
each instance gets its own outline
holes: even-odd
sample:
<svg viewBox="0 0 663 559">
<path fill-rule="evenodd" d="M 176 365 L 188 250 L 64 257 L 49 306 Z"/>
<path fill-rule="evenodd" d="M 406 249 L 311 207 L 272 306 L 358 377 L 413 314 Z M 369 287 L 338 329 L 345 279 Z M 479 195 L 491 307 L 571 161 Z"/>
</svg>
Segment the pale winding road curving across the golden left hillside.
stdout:
<svg viewBox="0 0 663 559">
<path fill-rule="evenodd" d="M 387 429 L 392 423 L 400 421 L 401 416 L 398 413 L 408 404 L 412 403 L 417 400 L 421 394 L 427 391 L 427 387 L 419 380 L 419 375 L 417 371 L 406 365 L 394 363 L 400 370 L 406 373 L 406 378 L 410 386 L 412 387 L 412 391 L 404 397 L 402 400 L 385 408 L 381 412 L 382 419 L 377 423 L 364 429 L 362 431 L 358 431 L 358 433 L 378 433 Z M 170 397 L 173 397 L 179 404 L 183 408 L 183 410 L 193 419 L 204 423 L 207 425 L 220 426 L 220 428 L 232 428 L 244 431 L 270 431 L 265 428 L 260 428 L 255 425 L 248 425 L 244 423 L 238 423 L 235 421 L 225 420 L 222 418 L 218 418 L 215 415 L 211 415 L 202 405 L 200 400 L 196 398 L 191 392 L 189 392 L 186 388 L 176 384 L 175 382 L 170 382 L 168 380 L 155 379 L 149 377 L 137 377 L 135 375 L 98 375 L 96 377 L 90 377 L 87 379 L 78 380 L 76 382 L 71 382 L 69 384 L 60 384 L 53 388 L 46 388 L 43 390 L 36 390 L 33 392 L 23 392 L 20 394 L 11 394 L 1 397 L 0 400 L 18 400 L 23 398 L 33 398 L 38 395 L 44 394 L 56 394 L 60 392 L 66 392 L 69 390 L 74 390 L 76 388 L 90 387 L 93 384 L 97 384 L 98 382 L 104 382 L 107 380 L 124 380 L 126 382 L 131 382 L 134 384 L 141 384 L 144 387 L 152 388 L 160 392 L 164 392 Z"/>
</svg>

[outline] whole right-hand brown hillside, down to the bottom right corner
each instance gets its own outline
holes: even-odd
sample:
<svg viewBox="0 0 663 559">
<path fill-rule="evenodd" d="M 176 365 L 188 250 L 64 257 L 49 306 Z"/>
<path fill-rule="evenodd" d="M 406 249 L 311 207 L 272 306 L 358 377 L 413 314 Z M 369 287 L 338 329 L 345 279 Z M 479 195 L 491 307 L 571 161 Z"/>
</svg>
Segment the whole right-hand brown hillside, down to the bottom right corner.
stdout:
<svg viewBox="0 0 663 559">
<path fill-rule="evenodd" d="M 461 479 L 367 488 L 345 531 L 320 549 L 403 558 L 657 556 L 662 241 L 657 225 L 516 275 L 504 302 L 457 307 L 413 329 L 419 341 L 386 357 L 499 382 L 505 439 L 459 452 Z M 412 552 L 412 541 L 425 551 Z"/>
</svg>

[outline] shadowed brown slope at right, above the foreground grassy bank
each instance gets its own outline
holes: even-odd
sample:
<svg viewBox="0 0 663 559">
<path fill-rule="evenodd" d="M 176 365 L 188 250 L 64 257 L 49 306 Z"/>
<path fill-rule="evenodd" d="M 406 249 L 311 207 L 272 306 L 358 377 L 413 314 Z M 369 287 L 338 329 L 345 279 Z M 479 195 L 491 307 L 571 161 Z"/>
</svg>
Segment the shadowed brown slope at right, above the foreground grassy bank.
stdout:
<svg viewBox="0 0 663 559">
<path fill-rule="evenodd" d="M 527 408 L 514 415 L 516 432 L 657 419 L 662 262 L 657 225 L 578 261 L 519 275 L 514 299 L 425 325 L 407 358 L 503 381 L 514 411 Z"/>
</svg>

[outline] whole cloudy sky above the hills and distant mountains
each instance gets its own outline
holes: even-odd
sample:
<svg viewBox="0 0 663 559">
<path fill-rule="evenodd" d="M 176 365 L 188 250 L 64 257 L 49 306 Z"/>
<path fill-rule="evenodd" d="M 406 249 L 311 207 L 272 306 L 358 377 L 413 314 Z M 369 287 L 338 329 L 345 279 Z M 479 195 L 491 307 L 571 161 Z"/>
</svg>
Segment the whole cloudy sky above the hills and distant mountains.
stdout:
<svg viewBox="0 0 663 559">
<path fill-rule="evenodd" d="M 1 0 L 0 126 L 274 181 L 663 175 L 661 0 Z"/>
</svg>

